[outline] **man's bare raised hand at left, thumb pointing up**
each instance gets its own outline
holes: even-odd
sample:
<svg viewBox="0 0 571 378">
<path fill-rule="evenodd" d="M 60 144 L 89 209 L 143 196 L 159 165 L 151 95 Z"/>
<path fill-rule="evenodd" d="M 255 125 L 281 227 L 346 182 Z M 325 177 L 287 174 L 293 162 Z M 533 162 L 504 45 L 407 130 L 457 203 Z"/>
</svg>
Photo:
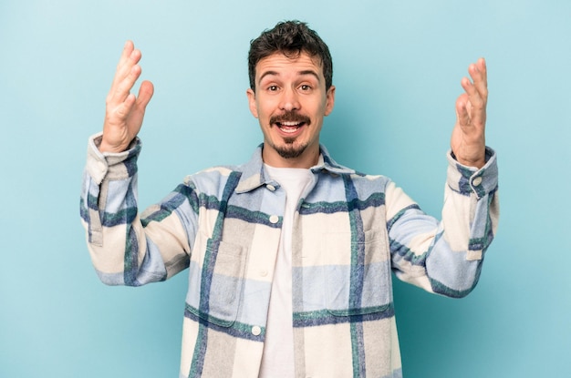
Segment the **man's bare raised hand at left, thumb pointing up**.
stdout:
<svg viewBox="0 0 571 378">
<path fill-rule="evenodd" d="M 140 56 L 140 50 L 127 41 L 105 102 L 103 138 L 99 145 L 101 152 L 123 152 L 139 133 L 145 108 L 154 92 L 152 83 L 143 81 L 138 97 L 130 93 L 140 77 Z"/>
</svg>

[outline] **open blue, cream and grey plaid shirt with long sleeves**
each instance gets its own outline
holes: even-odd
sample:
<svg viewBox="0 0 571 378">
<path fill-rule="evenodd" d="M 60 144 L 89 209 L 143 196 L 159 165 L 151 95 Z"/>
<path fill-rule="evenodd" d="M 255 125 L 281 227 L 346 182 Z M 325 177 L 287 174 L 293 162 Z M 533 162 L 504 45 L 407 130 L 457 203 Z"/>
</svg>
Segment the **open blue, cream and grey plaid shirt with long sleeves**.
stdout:
<svg viewBox="0 0 571 378">
<path fill-rule="evenodd" d="M 238 167 L 187 177 L 138 214 L 139 140 L 101 154 L 90 139 L 81 218 L 99 278 L 138 286 L 189 268 L 181 377 L 257 377 L 285 192 L 261 148 Z M 321 148 L 293 226 L 296 377 L 400 377 L 391 271 L 450 297 L 478 281 L 499 209 L 497 168 L 449 154 L 441 222 L 383 176 L 339 166 Z"/>
</svg>

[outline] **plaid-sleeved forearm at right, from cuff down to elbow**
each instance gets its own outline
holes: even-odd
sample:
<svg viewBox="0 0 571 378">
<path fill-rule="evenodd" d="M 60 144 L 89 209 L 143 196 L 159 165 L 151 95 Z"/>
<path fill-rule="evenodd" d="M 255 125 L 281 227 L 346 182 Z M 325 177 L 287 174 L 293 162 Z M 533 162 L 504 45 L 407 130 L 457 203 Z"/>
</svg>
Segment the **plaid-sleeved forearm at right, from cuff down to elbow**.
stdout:
<svg viewBox="0 0 571 378">
<path fill-rule="evenodd" d="M 482 169 L 462 167 L 449 158 L 442 209 L 441 246 L 427 257 L 432 290 L 462 297 L 480 277 L 483 254 L 492 243 L 499 219 L 495 155 L 486 150 Z M 440 247 L 440 248 L 437 248 Z"/>
</svg>

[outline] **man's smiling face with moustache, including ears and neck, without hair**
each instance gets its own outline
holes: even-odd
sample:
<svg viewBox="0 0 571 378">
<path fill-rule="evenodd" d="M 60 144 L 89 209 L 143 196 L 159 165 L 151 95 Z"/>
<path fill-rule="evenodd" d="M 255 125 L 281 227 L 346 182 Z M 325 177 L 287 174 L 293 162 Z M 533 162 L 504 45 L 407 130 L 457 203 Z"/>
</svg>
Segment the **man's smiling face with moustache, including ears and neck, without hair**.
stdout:
<svg viewBox="0 0 571 378">
<path fill-rule="evenodd" d="M 333 110 L 335 87 L 325 87 L 317 58 L 275 53 L 255 66 L 250 111 L 264 133 L 262 157 L 273 167 L 310 168 L 319 157 L 323 118 Z"/>
</svg>

